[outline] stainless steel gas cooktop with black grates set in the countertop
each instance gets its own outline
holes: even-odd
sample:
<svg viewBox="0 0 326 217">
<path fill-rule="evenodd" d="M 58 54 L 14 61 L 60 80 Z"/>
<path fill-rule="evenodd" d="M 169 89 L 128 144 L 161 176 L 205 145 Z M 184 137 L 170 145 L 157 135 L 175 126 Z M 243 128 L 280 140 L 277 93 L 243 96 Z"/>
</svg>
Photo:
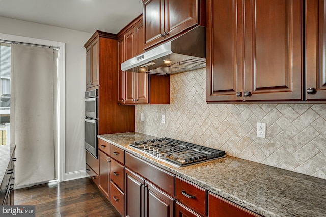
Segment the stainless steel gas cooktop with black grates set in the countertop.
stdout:
<svg viewBox="0 0 326 217">
<path fill-rule="evenodd" d="M 166 137 L 136 141 L 129 146 L 177 167 L 226 157 L 224 151 Z"/>
</svg>

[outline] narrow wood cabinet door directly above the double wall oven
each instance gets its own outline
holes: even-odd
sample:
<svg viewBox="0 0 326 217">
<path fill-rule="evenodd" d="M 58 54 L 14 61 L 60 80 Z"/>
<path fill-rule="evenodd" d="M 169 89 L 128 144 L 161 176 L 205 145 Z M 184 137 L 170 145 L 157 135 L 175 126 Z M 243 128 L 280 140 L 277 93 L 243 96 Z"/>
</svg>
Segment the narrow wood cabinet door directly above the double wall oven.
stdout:
<svg viewBox="0 0 326 217">
<path fill-rule="evenodd" d="M 98 86 L 98 45 L 99 38 L 86 47 L 86 88 Z"/>
</svg>

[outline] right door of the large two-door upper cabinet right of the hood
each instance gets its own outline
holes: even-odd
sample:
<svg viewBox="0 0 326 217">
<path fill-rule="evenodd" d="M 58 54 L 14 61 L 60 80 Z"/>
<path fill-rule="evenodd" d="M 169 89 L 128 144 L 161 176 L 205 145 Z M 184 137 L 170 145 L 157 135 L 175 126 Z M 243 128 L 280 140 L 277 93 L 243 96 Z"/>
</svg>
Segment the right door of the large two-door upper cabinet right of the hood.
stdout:
<svg viewBox="0 0 326 217">
<path fill-rule="evenodd" d="M 245 101 L 302 99 L 302 3 L 244 0 Z"/>
</svg>

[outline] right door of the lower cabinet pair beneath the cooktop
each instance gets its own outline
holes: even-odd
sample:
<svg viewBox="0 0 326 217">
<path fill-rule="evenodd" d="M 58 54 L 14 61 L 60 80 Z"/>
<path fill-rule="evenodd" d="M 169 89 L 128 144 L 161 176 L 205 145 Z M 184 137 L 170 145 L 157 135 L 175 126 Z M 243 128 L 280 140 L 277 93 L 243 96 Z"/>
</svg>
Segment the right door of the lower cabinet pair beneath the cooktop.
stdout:
<svg viewBox="0 0 326 217">
<path fill-rule="evenodd" d="M 145 217 L 173 217 L 174 198 L 149 182 L 145 186 Z"/>
</svg>

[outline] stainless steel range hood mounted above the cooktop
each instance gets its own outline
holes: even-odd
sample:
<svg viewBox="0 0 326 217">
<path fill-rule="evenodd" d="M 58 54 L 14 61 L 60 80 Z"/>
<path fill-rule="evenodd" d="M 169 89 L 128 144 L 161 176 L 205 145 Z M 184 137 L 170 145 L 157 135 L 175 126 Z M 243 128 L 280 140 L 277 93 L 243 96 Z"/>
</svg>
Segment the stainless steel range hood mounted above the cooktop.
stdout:
<svg viewBox="0 0 326 217">
<path fill-rule="evenodd" d="M 205 27 L 159 45 L 121 64 L 121 70 L 150 74 L 174 74 L 206 66 Z"/>
</svg>

